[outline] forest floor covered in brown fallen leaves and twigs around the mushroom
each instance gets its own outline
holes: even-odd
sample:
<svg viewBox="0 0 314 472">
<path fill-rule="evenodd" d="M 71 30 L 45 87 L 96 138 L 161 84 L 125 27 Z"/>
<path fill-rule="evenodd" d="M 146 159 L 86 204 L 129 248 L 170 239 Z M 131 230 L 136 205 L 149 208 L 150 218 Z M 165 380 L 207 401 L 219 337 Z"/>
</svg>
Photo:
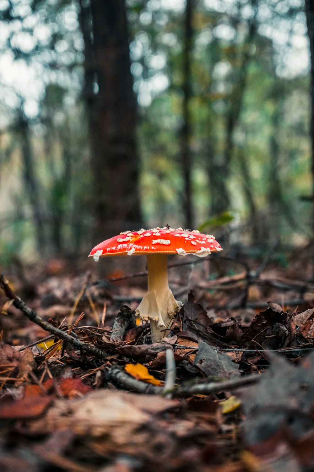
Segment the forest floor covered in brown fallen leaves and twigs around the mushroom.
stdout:
<svg viewBox="0 0 314 472">
<path fill-rule="evenodd" d="M 309 257 L 272 256 L 169 269 L 185 303 L 155 344 L 145 273 L 3 270 L 0 471 L 314 470 Z"/>
</svg>

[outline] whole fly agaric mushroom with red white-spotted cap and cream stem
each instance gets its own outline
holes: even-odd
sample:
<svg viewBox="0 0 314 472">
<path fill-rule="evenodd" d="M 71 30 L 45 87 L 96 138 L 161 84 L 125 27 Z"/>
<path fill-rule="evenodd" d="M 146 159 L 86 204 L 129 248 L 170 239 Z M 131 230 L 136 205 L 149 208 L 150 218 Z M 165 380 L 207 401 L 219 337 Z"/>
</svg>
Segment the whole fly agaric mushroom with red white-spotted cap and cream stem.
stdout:
<svg viewBox="0 0 314 472">
<path fill-rule="evenodd" d="M 89 257 L 98 262 L 100 257 L 113 255 L 146 255 L 147 293 L 136 309 L 143 320 L 150 320 L 152 342 L 164 336 L 171 318 L 182 306 L 177 302 L 168 286 L 167 256 L 194 254 L 205 257 L 222 248 L 214 236 L 187 231 L 183 228 L 153 228 L 139 231 L 124 231 L 119 236 L 106 239 L 92 249 Z"/>
</svg>

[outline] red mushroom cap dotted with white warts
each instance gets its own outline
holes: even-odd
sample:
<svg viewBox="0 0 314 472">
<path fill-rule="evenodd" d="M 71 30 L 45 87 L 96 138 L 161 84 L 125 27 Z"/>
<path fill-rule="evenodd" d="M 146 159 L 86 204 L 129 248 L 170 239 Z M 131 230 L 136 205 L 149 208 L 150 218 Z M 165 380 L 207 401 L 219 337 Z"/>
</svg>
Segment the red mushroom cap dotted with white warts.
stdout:
<svg viewBox="0 0 314 472">
<path fill-rule="evenodd" d="M 106 239 L 95 246 L 89 257 L 98 261 L 99 257 L 112 255 L 145 254 L 194 254 L 204 257 L 222 248 L 214 236 L 199 231 L 185 231 L 183 228 L 152 228 L 139 231 L 124 231 L 119 236 Z"/>
</svg>

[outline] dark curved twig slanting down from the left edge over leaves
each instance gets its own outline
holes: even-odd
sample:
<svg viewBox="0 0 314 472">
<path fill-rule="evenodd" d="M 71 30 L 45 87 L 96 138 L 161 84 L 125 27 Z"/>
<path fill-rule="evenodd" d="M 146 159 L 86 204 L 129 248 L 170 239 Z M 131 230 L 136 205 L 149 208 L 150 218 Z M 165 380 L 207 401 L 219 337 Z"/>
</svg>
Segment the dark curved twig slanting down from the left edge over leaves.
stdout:
<svg viewBox="0 0 314 472">
<path fill-rule="evenodd" d="M 84 341 L 80 341 L 77 337 L 73 337 L 61 329 L 56 328 L 53 326 L 51 323 L 48 323 L 48 321 L 43 320 L 38 316 L 36 312 L 34 312 L 31 308 L 29 308 L 23 300 L 18 297 L 8 286 L 8 283 L 6 282 L 4 276 L 0 274 L 0 287 L 4 291 L 5 295 L 8 297 L 9 300 L 14 300 L 13 304 L 14 306 L 18 309 L 21 310 L 21 312 L 24 313 L 24 315 L 27 316 L 29 320 L 31 320 L 33 323 L 36 323 L 39 325 L 42 329 L 45 331 L 48 331 L 49 333 L 53 334 L 54 336 L 58 337 L 59 339 L 63 339 L 64 341 L 72 343 L 73 346 L 75 346 L 77 349 L 81 349 L 82 351 L 86 351 L 90 354 L 95 355 L 99 359 L 103 359 L 106 355 L 104 351 L 101 349 L 98 349 L 97 347 L 93 346 L 90 343 L 85 343 Z"/>
</svg>

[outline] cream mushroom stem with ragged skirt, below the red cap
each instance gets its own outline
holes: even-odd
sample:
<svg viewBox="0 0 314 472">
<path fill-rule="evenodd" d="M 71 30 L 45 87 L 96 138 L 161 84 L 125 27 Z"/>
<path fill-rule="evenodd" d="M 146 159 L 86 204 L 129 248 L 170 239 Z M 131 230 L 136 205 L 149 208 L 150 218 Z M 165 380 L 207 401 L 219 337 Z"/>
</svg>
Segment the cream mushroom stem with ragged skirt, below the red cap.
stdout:
<svg viewBox="0 0 314 472">
<path fill-rule="evenodd" d="M 150 320 L 153 343 L 167 334 L 165 328 L 182 305 L 175 300 L 168 285 L 167 259 L 167 254 L 147 255 L 147 294 L 136 310 L 141 318 Z"/>
</svg>

